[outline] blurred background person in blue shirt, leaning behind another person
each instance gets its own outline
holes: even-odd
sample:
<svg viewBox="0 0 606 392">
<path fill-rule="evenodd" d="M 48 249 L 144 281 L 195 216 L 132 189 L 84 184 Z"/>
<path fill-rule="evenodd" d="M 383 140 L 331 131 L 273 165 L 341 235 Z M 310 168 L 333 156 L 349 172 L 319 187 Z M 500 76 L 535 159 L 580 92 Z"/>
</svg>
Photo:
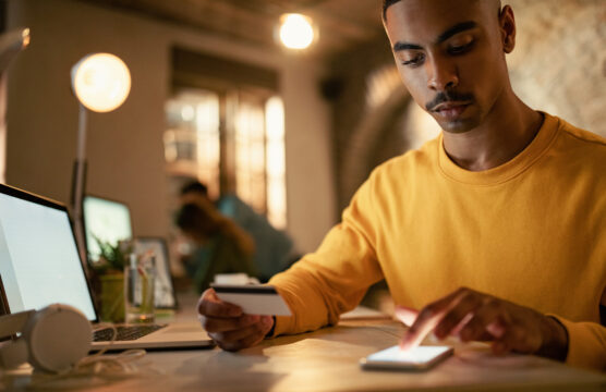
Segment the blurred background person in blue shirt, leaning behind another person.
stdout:
<svg viewBox="0 0 606 392">
<path fill-rule="evenodd" d="M 209 222 L 215 222 L 214 225 L 218 228 L 217 232 L 230 238 L 232 245 L 237 246 L 244 257 L 252 258 L 256 271 L 253 275 L 259 281 L 269 280 L 298 259 L 293 241 L 289 235 L 274 228 L 267 218 L 257 213 L 238 196 L 226 195 L 213 203 L 206 186 L 193 182 L 181 189 L 181 200 L 184 207 L 195 205 L 206 211 Z M 223 242 L 223 245 L 229 246 L 229 241 Z"/>
</svg>

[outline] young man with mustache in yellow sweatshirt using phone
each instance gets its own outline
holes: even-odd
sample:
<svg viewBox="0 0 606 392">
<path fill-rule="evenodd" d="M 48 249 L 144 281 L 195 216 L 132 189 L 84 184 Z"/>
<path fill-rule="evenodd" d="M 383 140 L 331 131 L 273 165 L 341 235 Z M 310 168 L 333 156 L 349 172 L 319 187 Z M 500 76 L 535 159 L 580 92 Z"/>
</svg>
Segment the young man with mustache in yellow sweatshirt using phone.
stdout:
<svg viewBox="0 0 606 392">
<path fill-rule="evenodd" d="M 384 24 L 443 134 L 378 167 L 319 249 L 270 281 L 293 317 L 242 315 L 208 291 L 203 326 L 226 350 L 314 330 L 385 278 L 410 319 L 404 348 L 433 331 L 604 368 L 606 140 L 514 95 L 513 11 L 498 0 L 386 0 Z"/>
</svg>

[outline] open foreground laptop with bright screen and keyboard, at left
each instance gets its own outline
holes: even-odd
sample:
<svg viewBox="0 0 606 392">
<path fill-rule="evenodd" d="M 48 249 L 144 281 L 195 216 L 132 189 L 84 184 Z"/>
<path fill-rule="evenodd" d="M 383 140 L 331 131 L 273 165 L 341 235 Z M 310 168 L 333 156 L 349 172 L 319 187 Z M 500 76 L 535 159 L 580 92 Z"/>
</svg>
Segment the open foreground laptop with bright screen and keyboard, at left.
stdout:
<svg viewBox="0 0 606 392">
<path fill-rule="evenodd" d="M 0 184 L 0 291 L 4 313 L 50 304 L 80 309 L 99 334 L 98 311 L 64 205 Z M 215 343 L 198 322 L 143 327 L 144 336 L 116 341 L 111 350 L 196 348 Z M 107 331 L 107 329 L 106 329 Z M 140 331 L 141 332 L 141 331 Z M 90 350 L 109 346 L 95 341 Z"/>
</svg>

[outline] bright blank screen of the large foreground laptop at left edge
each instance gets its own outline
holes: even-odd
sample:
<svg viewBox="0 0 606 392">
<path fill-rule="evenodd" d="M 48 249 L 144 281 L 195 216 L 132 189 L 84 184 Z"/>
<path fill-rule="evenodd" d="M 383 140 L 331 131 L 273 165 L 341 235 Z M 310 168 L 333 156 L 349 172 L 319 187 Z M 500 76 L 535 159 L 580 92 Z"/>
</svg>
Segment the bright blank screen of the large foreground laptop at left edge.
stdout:
<svg viewBox="0 0 606 392">
<path fill-rule="evenodd" d="M 11 313 L 61 303 L 97 319 L 63 206 L 0 185 L 0 259 Z"/>
</svg>

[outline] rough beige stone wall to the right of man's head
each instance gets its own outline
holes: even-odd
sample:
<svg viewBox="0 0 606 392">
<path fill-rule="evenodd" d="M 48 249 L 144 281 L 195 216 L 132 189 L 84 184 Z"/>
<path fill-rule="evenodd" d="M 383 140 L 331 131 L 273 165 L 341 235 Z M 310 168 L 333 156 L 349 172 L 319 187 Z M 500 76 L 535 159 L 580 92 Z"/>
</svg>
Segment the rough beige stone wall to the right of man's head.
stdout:
<svg viewBox="0 0 606 392">
<path fill-rule="evenodd" d="M 508 0 L 511 83 L 532 108 L 606 137 L 606 1 Z"/>
</svg>

